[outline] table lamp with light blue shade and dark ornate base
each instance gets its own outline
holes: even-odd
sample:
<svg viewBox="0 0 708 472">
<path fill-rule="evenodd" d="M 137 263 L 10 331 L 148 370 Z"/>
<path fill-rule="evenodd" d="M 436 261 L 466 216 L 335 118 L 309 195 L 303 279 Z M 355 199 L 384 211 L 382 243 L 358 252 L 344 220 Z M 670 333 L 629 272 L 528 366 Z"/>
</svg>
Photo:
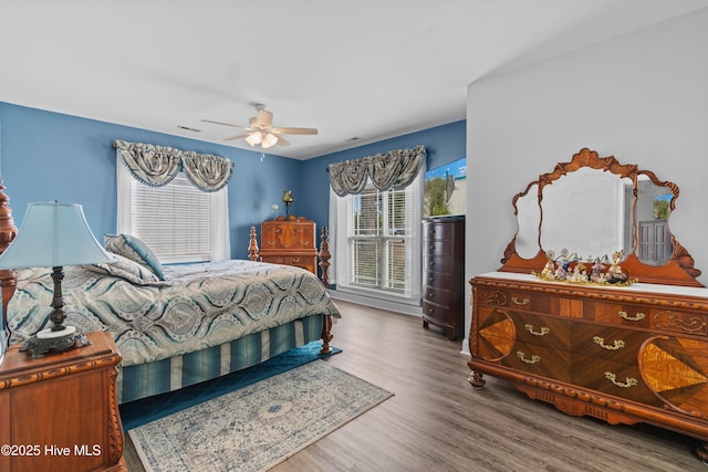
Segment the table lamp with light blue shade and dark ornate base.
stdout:
<svg viewBox="0 0 708 472">
<path fill-rule="evenodd" d="M 82 339 L 83 334 L 76 333 L 74 326 L 64 325 L 63 266 L 100 262 L 113 259 L 91 232 L 81 204 L 49 201 L 28 206 L 18 235 L 0 254 L 0 269 L 52 268 L 54 310 L 51 327 L 38 332 L 21 350 L 43 357 L 49 352 L 67 350 Z"/>
</svg>

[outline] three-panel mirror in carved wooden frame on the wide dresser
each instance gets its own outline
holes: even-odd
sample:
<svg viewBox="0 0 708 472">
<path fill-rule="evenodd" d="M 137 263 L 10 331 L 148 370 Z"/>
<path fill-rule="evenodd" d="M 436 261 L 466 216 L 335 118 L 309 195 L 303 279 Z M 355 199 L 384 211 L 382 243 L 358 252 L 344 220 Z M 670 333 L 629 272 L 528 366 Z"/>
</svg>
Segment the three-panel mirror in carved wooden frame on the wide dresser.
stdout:
<svg viewBox="0 0 708 472">
<path fill-rule="evenodd" d="M 702 286 L 669 230 L 677 197 L 678 186 L 649 170 L 581 149 L 514 196 L 518 231 L 500 270 L 540 271 L 548 252 L 594 260 L 622 251 L 623 268 L 639 282 Z"/>
</svg>

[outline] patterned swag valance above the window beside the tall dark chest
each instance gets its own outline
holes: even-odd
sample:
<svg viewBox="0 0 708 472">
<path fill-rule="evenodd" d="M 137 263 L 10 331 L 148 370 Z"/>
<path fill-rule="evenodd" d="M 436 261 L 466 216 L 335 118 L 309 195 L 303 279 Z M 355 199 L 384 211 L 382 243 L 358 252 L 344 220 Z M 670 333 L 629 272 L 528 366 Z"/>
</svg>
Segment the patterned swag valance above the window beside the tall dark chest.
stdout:
<svg viewBox="0 0 708 472">
<path fill-rule="evenodd" d="M 367 179 L 371 179 L 378 190 L 402 189 L 416 178 L 425 157 L 425 146 L 418 145 L 414 148 L 330 164 L 330 183 L 340 197 L 361 193 Z"/>
</svg>

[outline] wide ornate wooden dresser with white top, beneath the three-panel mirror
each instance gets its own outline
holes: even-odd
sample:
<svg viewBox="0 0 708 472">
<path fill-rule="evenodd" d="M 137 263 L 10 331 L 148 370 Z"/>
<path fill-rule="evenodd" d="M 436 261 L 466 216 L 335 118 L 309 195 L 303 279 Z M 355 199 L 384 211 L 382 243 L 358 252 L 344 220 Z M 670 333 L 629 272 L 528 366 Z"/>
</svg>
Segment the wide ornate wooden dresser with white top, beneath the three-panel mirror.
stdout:
<svg viewBox="0 0 708 472">
<path fill-rule="evenodd" d="M 573 285 L 501 272 L 470 283 L 472 386 L 489 374 L 569 415 L 708 441 L 706 289 Z"/>
</svg>

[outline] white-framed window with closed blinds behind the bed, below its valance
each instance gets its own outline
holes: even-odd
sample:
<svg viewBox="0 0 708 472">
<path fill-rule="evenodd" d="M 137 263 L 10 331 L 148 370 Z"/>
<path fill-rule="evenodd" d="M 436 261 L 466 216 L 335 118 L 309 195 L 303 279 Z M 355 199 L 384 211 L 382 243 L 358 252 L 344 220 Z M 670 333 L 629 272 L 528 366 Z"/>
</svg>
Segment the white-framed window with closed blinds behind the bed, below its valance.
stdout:
<svg viewBox="0 0 708 472">
<path fill-rule="evenodd" d="M 163 263 L 230 258 L 228 193 L 207 193 L 184 174 L 164 187 L 135 180 L 118 158 L 118 233 L 145 241 Z"/>
</svg>

